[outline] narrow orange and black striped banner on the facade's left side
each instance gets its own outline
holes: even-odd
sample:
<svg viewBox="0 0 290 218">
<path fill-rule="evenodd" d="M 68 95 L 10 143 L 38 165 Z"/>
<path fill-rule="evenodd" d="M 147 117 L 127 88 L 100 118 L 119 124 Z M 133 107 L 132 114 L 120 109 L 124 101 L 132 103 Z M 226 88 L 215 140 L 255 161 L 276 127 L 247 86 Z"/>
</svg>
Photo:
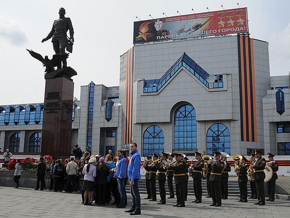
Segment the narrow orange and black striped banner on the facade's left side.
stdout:
<svg viewBox="0 0 290 218">
<path fill-rule="evenodd" d="M 124 144 L 131 143 L 132 100 L 133 100 L 133 56 L 134 47 L 126 52 L 126 89 L 125 89 L 125 122 Z"/>
</svg>

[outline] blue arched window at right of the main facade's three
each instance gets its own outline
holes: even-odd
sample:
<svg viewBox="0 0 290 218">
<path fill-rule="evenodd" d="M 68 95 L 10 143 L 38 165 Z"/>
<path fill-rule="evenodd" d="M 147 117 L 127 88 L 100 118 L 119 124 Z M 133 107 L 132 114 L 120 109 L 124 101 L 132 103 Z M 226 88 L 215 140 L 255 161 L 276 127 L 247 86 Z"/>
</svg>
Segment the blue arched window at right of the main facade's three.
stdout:
<svg viewBox="0 0 290 218">
<path fill-rule="evenodd" d="M 212 156 L 213 151 L 230 154 L 230 131 L 224 124 L 213 124 L 207 131 L 206 154 Z"/>
</svg>

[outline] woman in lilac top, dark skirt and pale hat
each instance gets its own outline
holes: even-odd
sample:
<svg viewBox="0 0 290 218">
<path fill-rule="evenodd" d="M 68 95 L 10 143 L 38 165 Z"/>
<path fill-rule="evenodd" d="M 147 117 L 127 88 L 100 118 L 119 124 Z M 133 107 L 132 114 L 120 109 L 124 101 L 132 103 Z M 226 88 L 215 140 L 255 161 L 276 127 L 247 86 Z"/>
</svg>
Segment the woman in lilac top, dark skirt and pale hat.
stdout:
<svg viewBox="0 0 290 218">
<path fill-rule="evenodd" d="M 85 200 L 91 199 L 92 191 L 94 190 L 95 178 L 97 176 L 96 158 L 90 158 L 88 164 L 84 166 L 82 174 L 84 175 L 83 190 L 85 190 Z M 85 202 L 84 205 L 92 205 L 91 202 Z"/>
</svg>

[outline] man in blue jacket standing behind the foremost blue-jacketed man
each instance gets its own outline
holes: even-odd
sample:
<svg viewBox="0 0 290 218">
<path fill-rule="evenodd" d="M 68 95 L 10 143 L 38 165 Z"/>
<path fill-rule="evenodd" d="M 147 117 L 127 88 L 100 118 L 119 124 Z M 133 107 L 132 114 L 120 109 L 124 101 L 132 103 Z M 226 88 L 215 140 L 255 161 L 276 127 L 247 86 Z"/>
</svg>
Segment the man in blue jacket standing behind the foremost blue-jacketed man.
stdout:
<svg viewBox="0 0 290 218">
<path fill-rule="evenodd" d="M 120 193 L 120 205 L 118 205 L 117 208 L 125 208 L 125 178 L 127 163 L 122 150 L 117 150 L 117 156 L 119 160 L 115 176 L 117 177 L 118 189 Z"/>
</svg>

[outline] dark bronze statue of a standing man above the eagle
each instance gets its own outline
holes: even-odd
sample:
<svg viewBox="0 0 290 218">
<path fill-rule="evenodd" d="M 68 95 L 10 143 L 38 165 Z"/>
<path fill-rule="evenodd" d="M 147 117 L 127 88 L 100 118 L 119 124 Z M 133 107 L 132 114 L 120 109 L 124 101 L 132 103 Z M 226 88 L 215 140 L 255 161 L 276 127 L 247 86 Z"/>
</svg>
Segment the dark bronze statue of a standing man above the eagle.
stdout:
<svg viewBox="0 0 290 218">
<path fill-rule="evenodd" d="M 73 25 L 69 17 L 64 17 L 66 10 L 59 8 L 59 19 L 53 22 L 50 33 L 41 41 L 45 42 L 52 37 L 53 50 L 56 54 L 65 53 L 67 46 L 67 35 L 66 32 L 70 31 L 70 40 L 73 42 Z M 62 60 L 63 68 L 67 67 L 66 59 Z M 57 66 L 57 69 L 61 69 L 61 63 Z"/>
</svg>

